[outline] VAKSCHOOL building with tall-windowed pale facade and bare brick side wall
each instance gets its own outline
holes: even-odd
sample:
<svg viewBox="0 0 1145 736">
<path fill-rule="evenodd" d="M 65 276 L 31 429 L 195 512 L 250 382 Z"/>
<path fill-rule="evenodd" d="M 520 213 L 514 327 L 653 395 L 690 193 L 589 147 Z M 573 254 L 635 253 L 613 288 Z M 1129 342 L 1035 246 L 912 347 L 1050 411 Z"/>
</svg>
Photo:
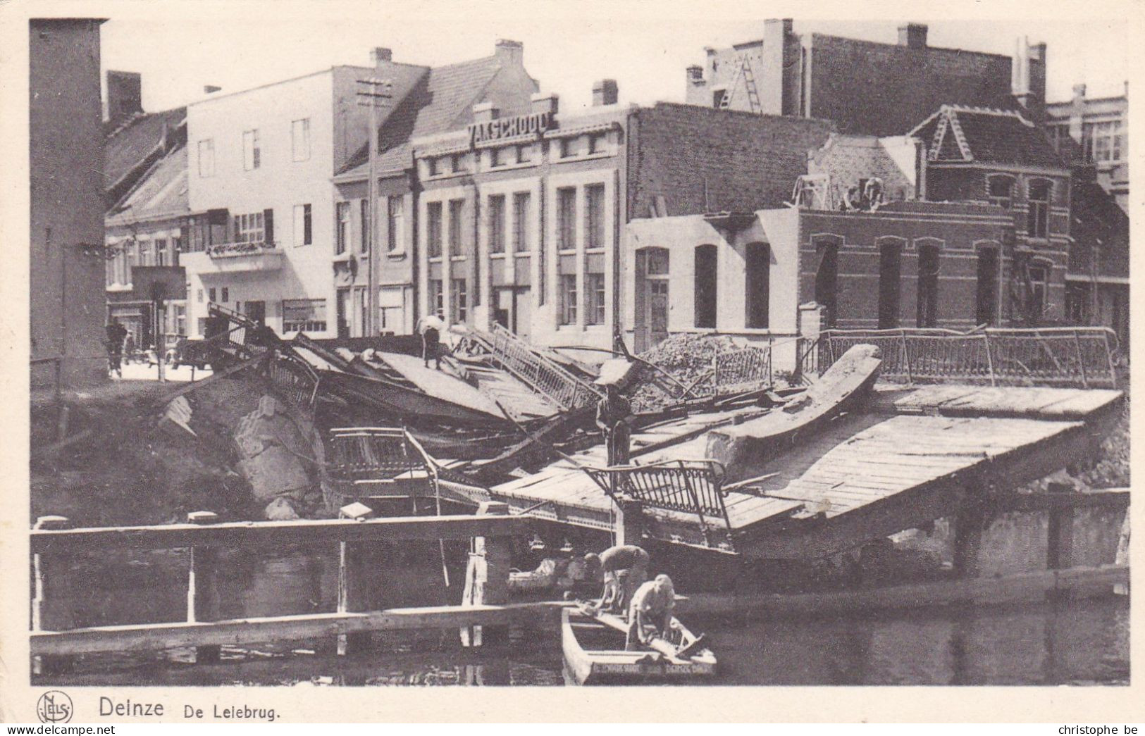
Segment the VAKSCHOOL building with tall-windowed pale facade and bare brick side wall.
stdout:
<svg viewBox="0 0 1145 736">
<path fill-rule="evenodd" d="M 552 95 L 528 114 L 481 105 L 467 129 L 413 141 L 423 314 L 608 347 L 631 298 L 626 223 L 780 206 L 831 132 L 821 120 L 618 105 L 611 80 L 593 97 L 576 113 Z"/>
</svg>

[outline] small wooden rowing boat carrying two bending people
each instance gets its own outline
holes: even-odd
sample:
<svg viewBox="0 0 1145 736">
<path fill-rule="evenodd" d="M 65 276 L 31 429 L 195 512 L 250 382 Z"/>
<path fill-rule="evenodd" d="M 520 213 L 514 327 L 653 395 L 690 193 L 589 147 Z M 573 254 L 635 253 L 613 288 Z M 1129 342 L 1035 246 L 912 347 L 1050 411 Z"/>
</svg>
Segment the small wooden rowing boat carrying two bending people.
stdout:
<svg viewBox="0 0 1145 736">
<path fill-rule="evenodd" d="M 643 683 L 716 674 L 716 655 L 679 619 L 672 619 L 678 643 L 653 639 L 639 650 L 625 651 L 627 622 L 619 616 L 570 608 L 561 616 L 564 670 L 576 684 Z"/>
</svg>

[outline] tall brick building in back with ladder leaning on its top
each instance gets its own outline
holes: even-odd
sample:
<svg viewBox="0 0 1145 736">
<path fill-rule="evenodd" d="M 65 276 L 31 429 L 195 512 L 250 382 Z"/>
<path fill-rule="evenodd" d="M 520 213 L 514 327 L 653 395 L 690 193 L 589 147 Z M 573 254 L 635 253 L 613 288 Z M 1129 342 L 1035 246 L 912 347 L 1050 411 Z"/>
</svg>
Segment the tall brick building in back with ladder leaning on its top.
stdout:
<svg viewBox="0 0 1145 736">
<path fill-rule="evenodd" d="M 927 27 L 899 27 L 898 43 L 797 34 L 790 19 L 761 38 L 706 48 L 689 66 L 688 104 L 832 120 L 840 133 L 902 135 L 942 104 L 1011 109 L 1037 118 L 1045 101 L 1045 45 L 1021 43 L 1017 61 L 935 48 Z"/>
</svg>

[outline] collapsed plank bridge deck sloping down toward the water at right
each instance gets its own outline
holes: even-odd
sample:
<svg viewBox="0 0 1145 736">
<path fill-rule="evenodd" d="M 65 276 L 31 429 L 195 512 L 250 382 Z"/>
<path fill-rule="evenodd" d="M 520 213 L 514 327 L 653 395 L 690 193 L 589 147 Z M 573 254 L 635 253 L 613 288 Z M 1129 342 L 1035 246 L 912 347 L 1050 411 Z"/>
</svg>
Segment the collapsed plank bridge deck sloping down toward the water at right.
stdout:
<svg viewBox="0 0 1145 736">
<path fill-rule="evenodd" d="M 879 385 L 854 411 L 759 467 L 735 468 L 734 477 L 756 480 L 725 492 L 731 528 L 724 520 L 705 523 L 722 528 L 726 549 L 751 556 L 806 559 L 853 548 L 955 513 L 970 496 L 1012 489 L 1082 459 L 1107 434 L 1121 396 L 1104 389 Z M 633 434 L 633 461 L 706 459 L 717 425 L 759 414 L 698 413 L 649 427 Z M 491 498 L 513 512 L 611 530 L 613 502 L 581 468 L 605 465 L 598 445 L 493 486 Z M 646 508 L 645 530 L 663 540 L 711 544 L 695 514 Z"/>
</svg>

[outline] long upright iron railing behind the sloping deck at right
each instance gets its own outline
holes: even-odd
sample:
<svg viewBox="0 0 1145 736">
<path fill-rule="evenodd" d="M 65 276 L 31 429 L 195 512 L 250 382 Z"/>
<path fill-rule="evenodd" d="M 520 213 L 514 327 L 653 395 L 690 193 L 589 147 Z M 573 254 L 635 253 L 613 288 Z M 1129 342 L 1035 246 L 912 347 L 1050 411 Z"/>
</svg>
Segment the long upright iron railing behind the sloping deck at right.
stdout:
<svg viewBox="0 0 1145 736">
<path fill-rule="evenodd" d="M 820 334 L 826 370 L 855 345 L 882 350 L 882 378 L 992 386 L 1116 388 L 1116 335 L 1107 327 L 831 330 Z"/>
</svg>

